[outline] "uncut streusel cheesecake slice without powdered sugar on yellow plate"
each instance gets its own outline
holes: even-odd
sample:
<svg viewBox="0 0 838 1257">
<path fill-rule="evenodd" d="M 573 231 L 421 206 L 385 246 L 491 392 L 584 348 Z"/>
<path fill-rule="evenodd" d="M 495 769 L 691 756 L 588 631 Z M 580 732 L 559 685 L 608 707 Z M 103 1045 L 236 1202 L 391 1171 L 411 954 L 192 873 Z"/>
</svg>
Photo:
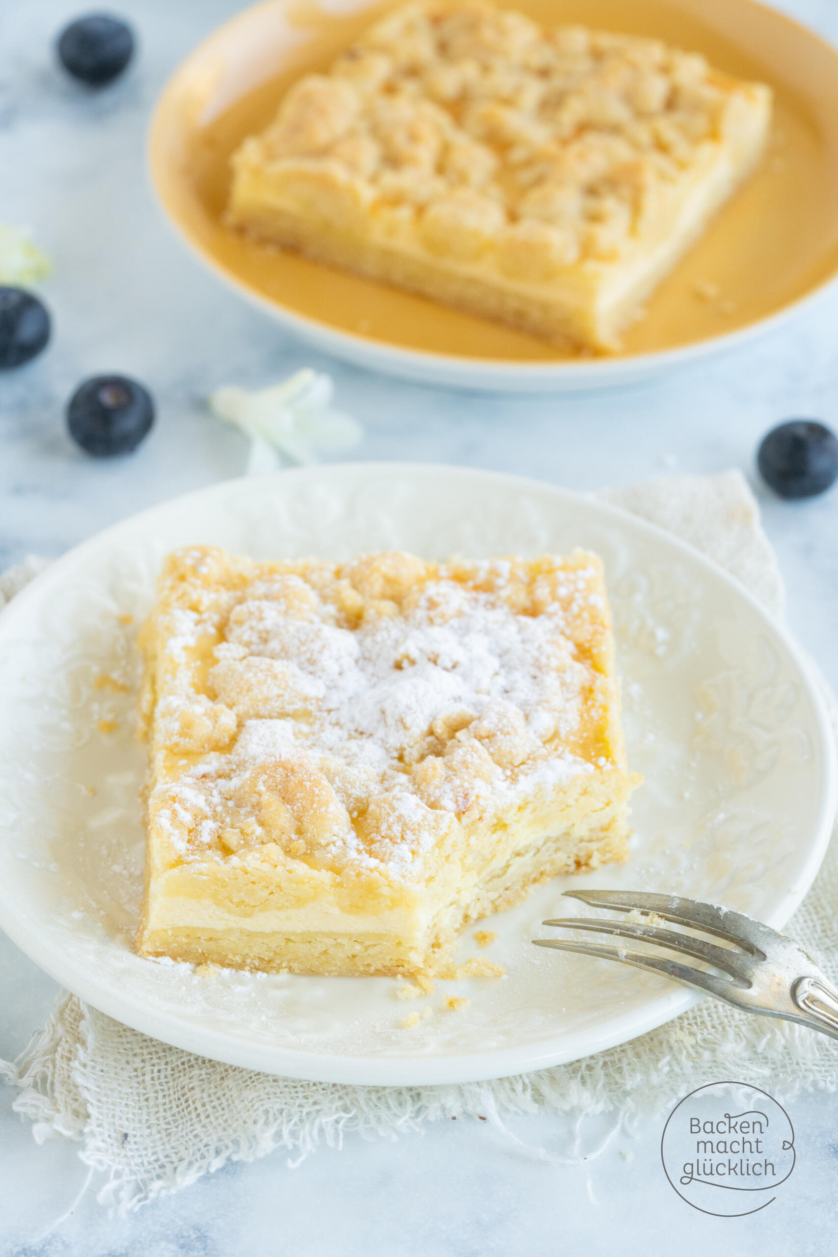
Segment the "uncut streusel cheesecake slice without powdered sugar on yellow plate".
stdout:
<svg viewBox="0 0 838 1257">
<path fill-rule="evenodd" d="M 656 39 L 420 0 L 291 87 L 232 158 L 227 219 L 587 351 L 763 151 L 771 93 Z"/>
</svg>

